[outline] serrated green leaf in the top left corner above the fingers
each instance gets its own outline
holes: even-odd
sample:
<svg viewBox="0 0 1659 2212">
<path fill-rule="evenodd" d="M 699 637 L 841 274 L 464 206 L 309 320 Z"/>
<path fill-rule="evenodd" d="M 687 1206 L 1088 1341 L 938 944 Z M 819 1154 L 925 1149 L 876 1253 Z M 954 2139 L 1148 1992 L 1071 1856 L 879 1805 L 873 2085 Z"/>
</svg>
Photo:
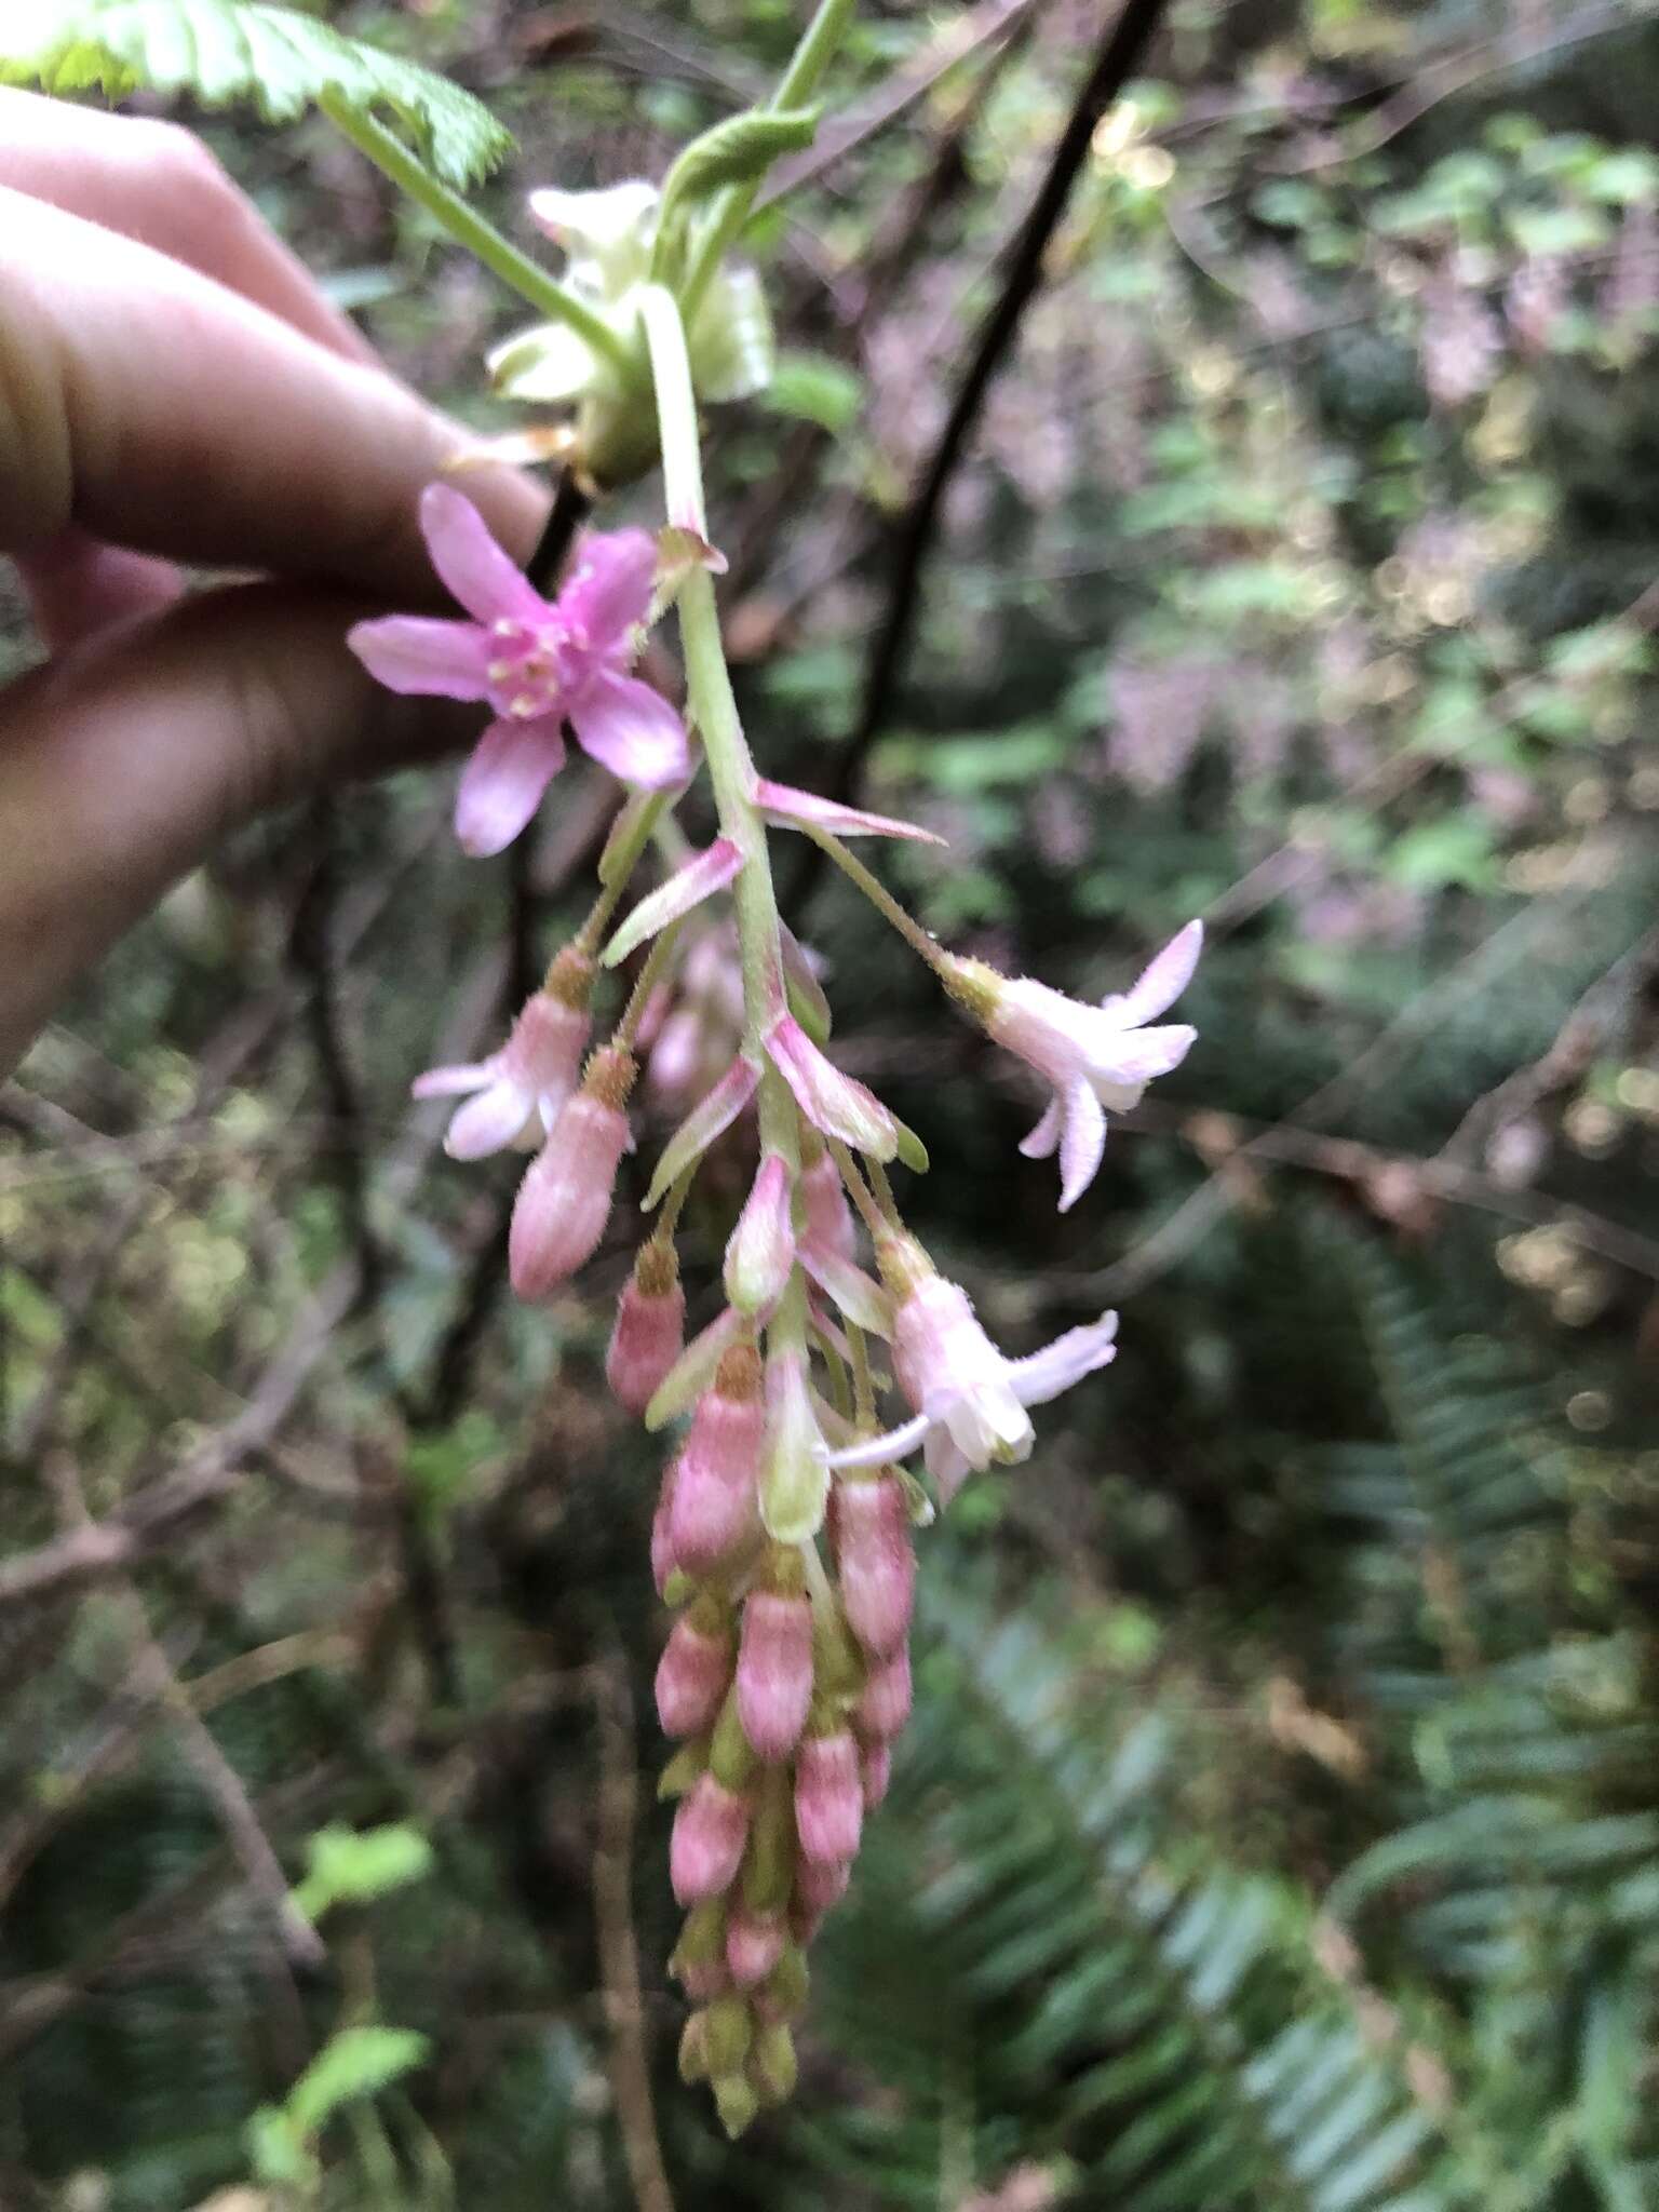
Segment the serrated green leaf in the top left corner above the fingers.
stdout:
<svg viewBox="0 0 1659 2212">
<path fill-rule="evenodd" d="M 210 108 L 252 100 L 268 122 L 332 95 L 356 115 L 389 113 L 453 186 L 476 184 L 513 146 L 458 84 L 259 0 L 29 0 L 0 20 L 0 84 L 190 93 Z"/>
</svg>

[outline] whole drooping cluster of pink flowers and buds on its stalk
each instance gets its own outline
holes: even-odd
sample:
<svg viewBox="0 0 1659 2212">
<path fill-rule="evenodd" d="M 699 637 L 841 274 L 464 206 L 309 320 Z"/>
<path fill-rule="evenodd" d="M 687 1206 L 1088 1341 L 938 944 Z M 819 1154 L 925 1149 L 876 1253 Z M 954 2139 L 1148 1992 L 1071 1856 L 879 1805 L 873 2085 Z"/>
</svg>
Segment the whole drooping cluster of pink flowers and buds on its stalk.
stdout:
<svg viewBox="0 0 1659 2212">
<path fill-rule="evenodd" d="M 686 338 L 672 336 L 672 319 L 661 338 L 655 195 L 599 199 L 542 212 L 564 226 L 595 301 L 637 294 L 653 343 L 668 343 L 653 372 L 672 383 L 686 374 Z M 555 352 L 535 334 L 507 369 L 557 383 Z M 622 387 L 606 405 L 624 409 Z M 845 847 L 929 832 L 763 779 L 726 686 L 710 582 L 719 555 L 706 544 L 697 469 L 670 451 L 670 425 L 684 434 L 688 418 L 664 400 L 675 526 L 657 540 L 588 533 L 551 599 L 460 493 L 429 489 L 431 560 L 471 619 L 392 615 L 361 624 L 352 646 L 398 690 L 489 706 L 456 807 L 469 852 L 500 852 L 529 825 L 564 761 L 566 723 L 628 787 L 595 905 L 511 1035 L 414 1088 L 460 1102 L 447 1133 L 456 1159 L 531 1152 L 509 1230 L 513 1287 L 531 1301 L 553 1296 L 606 1241 L 635 1115 L 679 1117 L 644 1177 L 655 1219 L 617 1301 L 604 1371 L 646 1427 L 684 1422 L 650 1542 L 672 1610 L 657 1710 L 677 1745 L 661 1787 L 677 1805 L 670 1880 L 686 1920 L 670 1964 L 692 2006 L 681 2070 L 710 2084 L 737 2132 L 792 2088 L 805 1951 L 889 1785 L 911 1703 L 911 1531 L 971 1471 L 1029 1458 L 1031 1409 L 1117 1349 L 1117 1316 L 1102 1314 L 1006 1358 L 967 1290 L 905 1225 L 887 1168 L 925 1170 L 927 1152 L 832 1060 L 818 962 L 776 911 L 768 834 L 816 838 L 987 1035 L 1044 1079 L 1048 1106 L 1022 1150 L 1060 1152 L 1062 1212 L 1099 1168 L 1108 1113 L 1133 1108 L 1192 1044 L 1188 1024 L 1159 1015 L 1190 982 L 1201 931 L 1190 922 L 1097 1006 L 1009 980 L 933 945 Z M 701 765 L 688 723 L 633 672 L 646 624 L 677 593 L 688 719 L 717 816 L 701 847 L 675 821 Z M 661 880 L 617 920 L 653 847 Z M 712 914 L 712 900 L 728 900 L 732 918 Z M 628 962 L 626 1002 L 595 1042 L 595 998 Z M 710 1281 L 708 1318 L 688 1340 L 681 1208 L 699 1175 L 714 1181 L 717 1146 L 721 1172 L 745 1150 L 752 1170 L 732 1203 L 719 1290 Z M 889 1387 L 900 1405 L 883 1422 Z M 931 1495 L 902 1469 L 914 1453 Z"/>
</svg>

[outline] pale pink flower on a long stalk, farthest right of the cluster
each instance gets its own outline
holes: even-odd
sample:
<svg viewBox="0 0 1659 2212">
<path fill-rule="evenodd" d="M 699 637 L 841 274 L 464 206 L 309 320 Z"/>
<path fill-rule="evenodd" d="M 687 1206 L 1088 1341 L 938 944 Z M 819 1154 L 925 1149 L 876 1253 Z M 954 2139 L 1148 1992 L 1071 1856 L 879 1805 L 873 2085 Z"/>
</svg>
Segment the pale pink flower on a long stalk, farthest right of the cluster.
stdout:
<svg viewBox="0 0 1659 2212">
<path fill-rule="evenodd" d="M 1146 1029 L 1186 991 L 1203 947 L 1203 922 L 1188 922 L 1128 991 L 1084 1006 L 1029 975 L 1009 982 L 978 962 L 951 962 L 951 989 L 991 1037 L 1053 1086 L 1048 1110 L 1024 1139 L 1026 1159 L 1060 1152 L 1060 1212 L 1095 1181 L 1106 1148 L 1106 1108 L 1139 1106 L 1155 1075 L 1179 1068 L 1197 1035 L 1186 1022 Z"/>
</svg>

